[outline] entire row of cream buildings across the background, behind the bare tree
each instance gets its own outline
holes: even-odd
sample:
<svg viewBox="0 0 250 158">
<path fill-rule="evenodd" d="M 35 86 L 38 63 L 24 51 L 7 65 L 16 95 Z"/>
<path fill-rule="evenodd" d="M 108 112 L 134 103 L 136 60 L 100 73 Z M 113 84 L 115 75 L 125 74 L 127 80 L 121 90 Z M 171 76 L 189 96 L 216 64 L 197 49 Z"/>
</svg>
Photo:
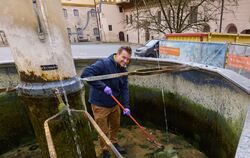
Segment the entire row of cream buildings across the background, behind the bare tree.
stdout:
<svg viewBox="0 0 250 158">
<path fill-rule="evenodd" d="M 135 25 L 136 16 L 133 0 L 62 0 L 62 4 L 64 15 L 67 14 L 65 21 L 71 42 L 81 41 L 79 39 L 83 41 L 100 39 L 103 42 L 145 43 L 149 39 L 164 37 L 160 31 L 152 31 L 147 27 L 140 29 L 132 27 Z M 250 1 L 238 0 L 238 4 L 232 4 L 230 0 L 225 0 L 227 9 L 223 12 L 221 32 L 250 34 L 250 9 L 248 9 Z M 220 6 L 221 3 L 217 5 Z M 162 21 L 163 15 L 159 8 L 150 7 L 149 9 Z M 89 20 L 88 12 L 91 12 Z M 84 29 L 81 30 L 81 28 Z M 200 32 L 200 30 L 186 32 L 197 31 Z M 216 15 L 214 21 L 208 22 L 203 31 L 219 32 L 220 14 Z"/>
</svg>

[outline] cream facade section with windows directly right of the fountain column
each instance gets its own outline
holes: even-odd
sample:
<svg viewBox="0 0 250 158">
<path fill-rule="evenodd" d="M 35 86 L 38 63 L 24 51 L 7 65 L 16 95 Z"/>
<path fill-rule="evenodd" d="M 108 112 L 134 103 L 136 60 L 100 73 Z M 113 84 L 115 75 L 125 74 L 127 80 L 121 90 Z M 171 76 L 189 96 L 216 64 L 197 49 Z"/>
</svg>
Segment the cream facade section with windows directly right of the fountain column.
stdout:
<svg viewBox="0 0 250 158">
<path fill-rule="evenodd" d="M 62 0 L 61 2 L 71 43 L 100 39 L 94 1 Z"/>
</svg>

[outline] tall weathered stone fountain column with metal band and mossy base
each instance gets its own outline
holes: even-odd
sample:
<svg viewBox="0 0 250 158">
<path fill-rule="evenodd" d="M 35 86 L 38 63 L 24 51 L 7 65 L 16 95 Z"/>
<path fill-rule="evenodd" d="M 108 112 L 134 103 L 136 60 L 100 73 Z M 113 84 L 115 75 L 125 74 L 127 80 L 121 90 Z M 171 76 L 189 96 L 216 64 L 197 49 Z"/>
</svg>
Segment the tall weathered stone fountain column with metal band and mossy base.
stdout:
<svg viewBox="0 0 250 158">
<path fill-rule="evenodd" d="M 76 77 L 60 0 L 0 0 L 0 29 L 6 33 L 20 77 L 18 94 L 24 102 L 43 157 L 49 157 L 44 121 L 58 113 L 55 90 L 65 94 L 71 108 L 84 109 L 83 85 Z M 88 125 L 85 125 L 89 128 Z M 90 135 L 89 130 L 80 131 Z M 54 145 L 72 142 L 65 131 L 58 130 Z M 87 138 L 86 138 L 87 139 Z M 84 139 L 86 146 L 93 148 Z M 94 155 L 84 151 L 82 157 Z M 57 150 L 57 157 L 79 157 L 75 145 Z M 92 153 L 89 153 L 92 152 Z"/>
</svg>

